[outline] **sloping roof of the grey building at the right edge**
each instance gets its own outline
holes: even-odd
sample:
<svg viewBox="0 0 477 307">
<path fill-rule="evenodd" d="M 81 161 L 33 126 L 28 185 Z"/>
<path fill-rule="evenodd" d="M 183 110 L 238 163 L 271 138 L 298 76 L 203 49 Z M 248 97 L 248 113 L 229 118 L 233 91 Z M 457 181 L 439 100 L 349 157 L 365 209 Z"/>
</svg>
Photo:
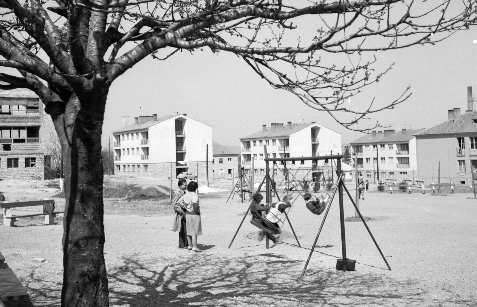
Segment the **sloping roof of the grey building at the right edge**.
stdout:
<svg viewBox="0 0 477 307">
<path fill-rule="evenodd" d="M 425 130 L 419 130 L 415 133 L 416 137 L 420 136 L 439 136 L 460 133 L 477 133 L 477 114 L 468 112 L 460 115 L 460 118 L 454 122 L 454 119 L 446 120 L 434 127 Z"/>
</svg>

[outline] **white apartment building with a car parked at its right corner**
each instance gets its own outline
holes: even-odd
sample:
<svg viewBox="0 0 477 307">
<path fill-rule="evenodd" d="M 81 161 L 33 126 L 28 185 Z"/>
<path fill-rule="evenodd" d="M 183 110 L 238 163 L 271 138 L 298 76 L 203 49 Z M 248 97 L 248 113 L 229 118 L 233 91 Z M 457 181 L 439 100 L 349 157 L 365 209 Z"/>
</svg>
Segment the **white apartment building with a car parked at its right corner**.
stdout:
<svg viewBox="0 0 477 307">
<path fill-rule="evenodd" d="M 174 114 L 139 116 L 135 123 L 113 131 L 116 175 L 168 178 L 181 172 L 206 177 L 207 144 L 212 174 L 212 126 Z"/>
</svg>

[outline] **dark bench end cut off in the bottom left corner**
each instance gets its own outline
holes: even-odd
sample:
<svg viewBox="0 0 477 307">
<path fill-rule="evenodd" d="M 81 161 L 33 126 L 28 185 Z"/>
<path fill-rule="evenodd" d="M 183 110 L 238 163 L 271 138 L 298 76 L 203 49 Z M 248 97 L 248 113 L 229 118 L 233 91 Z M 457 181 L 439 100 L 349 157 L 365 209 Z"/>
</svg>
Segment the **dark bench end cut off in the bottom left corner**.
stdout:
<svg viewBox="0 0 477 307">
<path fill-rule="evenodd" d="M 13 307 L 19 305 L 21 302 L 28 302 L 30 296 L 27 290 L 23 287 L 18 277 L 4 264 L 5 258 L 0 253 L 0 306 Z"/>
</svg>

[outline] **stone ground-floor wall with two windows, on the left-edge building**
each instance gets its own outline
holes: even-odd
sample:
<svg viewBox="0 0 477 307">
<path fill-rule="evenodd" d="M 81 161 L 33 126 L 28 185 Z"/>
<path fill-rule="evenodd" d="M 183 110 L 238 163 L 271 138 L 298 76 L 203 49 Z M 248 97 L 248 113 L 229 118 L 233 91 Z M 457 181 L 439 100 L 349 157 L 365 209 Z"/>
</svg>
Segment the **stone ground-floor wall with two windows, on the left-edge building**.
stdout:
<svg viewBox="0 0 477 307">
<path fill-rule="evenodd" d="M 7 168 L 7 158 L 18 158 L 18 168 Z M 25 158 L 36 158 L 35 167 L 26 168 Z M 43 156 L 36 154 L 12 154 L 8 156 L 0 156 L 0 178 L 44 180 L 45 173 Z"/>
</svg>

